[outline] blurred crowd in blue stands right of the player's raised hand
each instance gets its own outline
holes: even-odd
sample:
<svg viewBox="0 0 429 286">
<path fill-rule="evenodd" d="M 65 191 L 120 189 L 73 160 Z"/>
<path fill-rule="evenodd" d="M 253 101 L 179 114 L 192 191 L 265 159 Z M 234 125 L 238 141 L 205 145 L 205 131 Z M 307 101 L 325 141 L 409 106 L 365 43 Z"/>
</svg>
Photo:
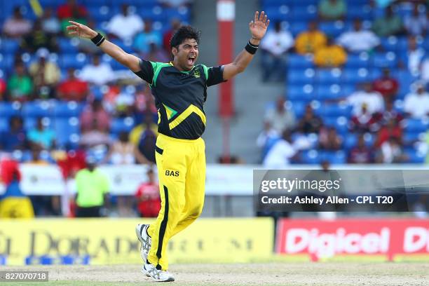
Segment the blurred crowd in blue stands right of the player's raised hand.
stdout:
<svg viewBox="0 0 429 286">
<path fill-rule="evenodd" d="M 266 168 L 425 161 L 428 1 L 261 2 L 262 79 L 286 85 L 257 139 Z"/>
</svg>

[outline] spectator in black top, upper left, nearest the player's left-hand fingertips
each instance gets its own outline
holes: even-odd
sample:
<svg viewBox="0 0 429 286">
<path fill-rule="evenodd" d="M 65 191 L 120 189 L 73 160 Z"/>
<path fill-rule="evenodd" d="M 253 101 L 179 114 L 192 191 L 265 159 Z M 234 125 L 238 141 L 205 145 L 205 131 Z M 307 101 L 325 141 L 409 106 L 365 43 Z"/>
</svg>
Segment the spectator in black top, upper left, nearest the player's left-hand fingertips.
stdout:
<svg viewBox="0 0 429 286">
<path fill-rule="evenodd" d="M 21 47 L 28 53 L 35 53 L 36 50 L 41 48 L 45 50 L 48 49 L 50 52 L 56 52 L 58 50 L 57 39 L 55 36 L 43 31 L 41 20 L 36 20 L 36 22 L 34 22 L 32 32 L 22 39 Z"/>
</svg>

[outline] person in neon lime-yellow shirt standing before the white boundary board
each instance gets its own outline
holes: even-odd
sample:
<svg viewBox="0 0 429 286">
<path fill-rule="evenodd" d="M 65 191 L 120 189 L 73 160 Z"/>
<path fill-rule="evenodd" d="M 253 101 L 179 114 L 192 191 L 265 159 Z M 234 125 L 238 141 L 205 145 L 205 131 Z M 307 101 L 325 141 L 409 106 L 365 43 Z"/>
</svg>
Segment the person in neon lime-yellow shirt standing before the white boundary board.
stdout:
<svg viewBox="0 0 429 286">
<path fill-rule="evenodd" d="M 96 168 L 94 158 L 87 158 L 86 163 L 76 174 L 76 217 L 101 217 L 108 202 L 109 180 Z"/>
</svg>

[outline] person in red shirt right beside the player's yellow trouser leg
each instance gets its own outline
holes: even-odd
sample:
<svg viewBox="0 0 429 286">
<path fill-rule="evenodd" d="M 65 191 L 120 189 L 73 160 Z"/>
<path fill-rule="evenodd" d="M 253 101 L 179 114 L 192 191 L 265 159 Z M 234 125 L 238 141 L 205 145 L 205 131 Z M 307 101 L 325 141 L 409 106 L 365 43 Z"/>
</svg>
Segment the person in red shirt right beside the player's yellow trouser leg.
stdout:
<svg viewBox="0 0 429 286">
<path fill-rule="evenodd" d="M 135 193 L 137 210 L 141 217 L 157 217 L 161 209 L 161 198 L 154 170 L 149 169 L 147 177 L 148 182 L 142 183 Z"/>
</svg>

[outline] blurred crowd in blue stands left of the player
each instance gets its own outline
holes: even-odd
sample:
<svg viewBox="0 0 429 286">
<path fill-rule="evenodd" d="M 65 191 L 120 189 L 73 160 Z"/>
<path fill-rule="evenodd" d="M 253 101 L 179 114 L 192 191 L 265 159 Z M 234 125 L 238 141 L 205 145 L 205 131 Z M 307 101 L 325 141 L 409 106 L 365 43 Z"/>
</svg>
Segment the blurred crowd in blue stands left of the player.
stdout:
<svg viewBox="0 0 429 286">
<path fill-rule="evenodd" d="M 67 168 L 73 156 L 83 168 L 88 154 L 97 163 L 154 164 L 158 114 L 149 86 L 66 27 L 81 22 L 129 53 L 169 62 L 170 38 L 189 22 L 192 1 L 30 2 L 0 4 L 0 153 Z M 38 215 L 60 211 L 57 198 L 33 199 Z"/>
</svg>

